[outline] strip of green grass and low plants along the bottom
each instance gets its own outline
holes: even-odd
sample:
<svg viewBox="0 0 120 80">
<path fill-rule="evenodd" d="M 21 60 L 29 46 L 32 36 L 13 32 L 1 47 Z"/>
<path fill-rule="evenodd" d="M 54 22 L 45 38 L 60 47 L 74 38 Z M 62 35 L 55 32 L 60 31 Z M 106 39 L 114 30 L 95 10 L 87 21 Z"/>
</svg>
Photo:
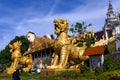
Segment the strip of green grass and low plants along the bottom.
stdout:
<svg viewBox="0 0 120 80">
<path fill-rule="evenodd" d="M 65 71 L 61 74 L 53 77 L 41 77 L 37 73 L 24 73 L 21 72 L 21 80 L 118 80 L 120 79 L 120 70 L 103 72 L 100 74 L 94 74 L 93 71 L 87 73 L 80 73 L 75 71 Z M 0 73 L 0 80 L 11 80 L 12 76 L 7 75 L 5 72 Z"/>
</svg>

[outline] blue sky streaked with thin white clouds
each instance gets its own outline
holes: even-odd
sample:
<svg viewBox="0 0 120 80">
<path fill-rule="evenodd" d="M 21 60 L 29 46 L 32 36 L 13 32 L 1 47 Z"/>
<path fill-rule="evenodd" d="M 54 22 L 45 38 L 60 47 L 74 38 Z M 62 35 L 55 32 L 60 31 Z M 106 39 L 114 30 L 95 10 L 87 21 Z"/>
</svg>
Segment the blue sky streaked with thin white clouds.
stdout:
<svg viewBox="0 0 120 80">
<path fill-rule="evenodd" d="M 69 26 L 76 22 L 91 23 L 102 30 L 109 0 L 0 0 L 0 50 L 28 31 L 37 36 L 54 34 L 53 20 L 65 18 Z M 112 0 L 120 12 L 120 0 Z"/>
</svg>

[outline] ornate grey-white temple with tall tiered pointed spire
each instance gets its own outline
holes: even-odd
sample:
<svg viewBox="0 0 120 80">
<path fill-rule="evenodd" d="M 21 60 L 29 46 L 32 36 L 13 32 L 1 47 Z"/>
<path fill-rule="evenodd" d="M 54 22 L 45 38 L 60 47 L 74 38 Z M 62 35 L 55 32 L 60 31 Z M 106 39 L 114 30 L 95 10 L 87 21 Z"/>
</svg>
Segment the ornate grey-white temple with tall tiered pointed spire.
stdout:
<svg viewBox="0 0 120 80">
<path fill-rule="evenodd" d="M 107 18 L 103 31 L 106 39 L 110 38 L 112 33 L 114 33 L 116 37 L 120 37 L 120 13 L 114 11 L 111 0 L 109 0 Z"/>
</svg>

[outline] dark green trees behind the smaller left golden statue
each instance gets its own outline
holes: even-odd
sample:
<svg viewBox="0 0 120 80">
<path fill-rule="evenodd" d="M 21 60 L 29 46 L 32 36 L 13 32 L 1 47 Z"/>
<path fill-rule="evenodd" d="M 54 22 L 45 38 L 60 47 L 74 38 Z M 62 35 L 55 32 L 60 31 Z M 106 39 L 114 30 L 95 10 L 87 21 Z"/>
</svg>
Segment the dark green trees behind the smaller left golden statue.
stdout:
<svg viewBox="0 0 120 80">
<path fill-rule="evenodd" d="M 9 44 L 12 44 L 16 41 L 21 41 L 22 42 L 21 53 L 24 53 L 29 46 L 29 42 L 27 41 L 25 36 L 16 36 L 13 40 L 10 41 Z M 3 49 L 0 52 L 0 64 L 2 64 L 5 67 L 9 66 L 11 64 L 11 55 L 10 55 L 9 44 L 5 47 L 5 49 Z"/>
</svg>

